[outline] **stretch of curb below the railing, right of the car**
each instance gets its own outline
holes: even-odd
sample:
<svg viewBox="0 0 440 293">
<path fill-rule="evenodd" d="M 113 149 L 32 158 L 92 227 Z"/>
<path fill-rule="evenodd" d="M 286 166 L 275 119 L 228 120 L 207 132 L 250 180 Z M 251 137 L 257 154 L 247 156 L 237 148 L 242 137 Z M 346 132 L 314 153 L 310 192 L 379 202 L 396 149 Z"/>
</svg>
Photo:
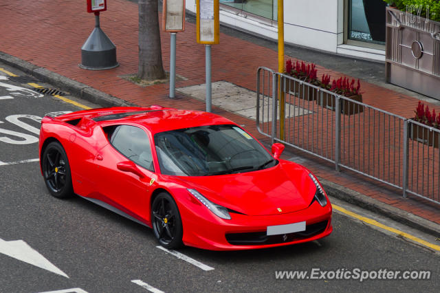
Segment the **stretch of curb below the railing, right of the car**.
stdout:
<svg viewBox="0 0 440 293">
<path fill-rule="evenodd" d="M 334 182 L 329 180 L 325 180 L 323 178 L 319 178 L 322 186 L 324 187 L 327 195 L 330 197 L 336 197 L 337 199 L 341 199 L 344 202 L 349 202 L 350 204 L 354 204 L 355 206 L 360 206 L 361 208 L 365 208 L 366 210 L 370 210 L 373 213 L 377 213 L 380 215 L 384 215 L 390 219 L 398 221 L 401 224 L 405 224 L 411 228 L 415 228 L 422 232 L 428 233 L 434 237 L 440 236 L 440 225 L 436 224 L 427 219 L 423 219 L 417 215 L 412 213 L 408 213 L 405 210 L 401 210 L 399 208 L 395 208 L 394 206 L 390 206 L 389 204 L 385 204 L 384 202 L 380 202 L 377 199 L 373 199 L 362 193 L 358 193 L 358 191 L 353 191 L 350 188 L 340 186 Z M 401 200 L 406 200 L 404 197 Z"/>
</svg>

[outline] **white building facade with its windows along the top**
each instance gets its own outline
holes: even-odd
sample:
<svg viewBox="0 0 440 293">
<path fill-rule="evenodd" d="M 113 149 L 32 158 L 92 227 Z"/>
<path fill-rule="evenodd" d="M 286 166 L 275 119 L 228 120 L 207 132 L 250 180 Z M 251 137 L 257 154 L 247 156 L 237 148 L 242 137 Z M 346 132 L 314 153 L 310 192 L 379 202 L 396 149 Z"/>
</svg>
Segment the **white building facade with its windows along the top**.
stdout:
<svg viewBox="0 0 440 293">
<path fill-rule="evenodd" d="M 278 39 L 278 0 L 219 0 L 220 22 Z M 186 9 L 196 13 L 196 0 Z M 385 61 L 383 0 L 284 0 L 285 43 Z"/>
</svg>

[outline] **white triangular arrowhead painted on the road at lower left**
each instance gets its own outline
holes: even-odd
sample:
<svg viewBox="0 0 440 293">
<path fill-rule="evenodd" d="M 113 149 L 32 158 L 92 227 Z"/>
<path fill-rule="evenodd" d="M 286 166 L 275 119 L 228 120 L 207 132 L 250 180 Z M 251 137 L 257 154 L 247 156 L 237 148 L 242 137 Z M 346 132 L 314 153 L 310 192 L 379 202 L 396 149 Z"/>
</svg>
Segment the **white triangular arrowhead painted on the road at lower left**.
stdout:
<svg viewBox="0 0 440 293">
<path fill-rule="evenodd" d="M 5 241 L 0 238 L 0 253 L 6 254 L 9 257 L 30 263 L 44 270 L 60 274 L 69 279 L 69 276 L 62 270 L 56 268 L 50 261 L 45 259 L 38 251 L 34 250 L 23 240 Z"/>
</svg>

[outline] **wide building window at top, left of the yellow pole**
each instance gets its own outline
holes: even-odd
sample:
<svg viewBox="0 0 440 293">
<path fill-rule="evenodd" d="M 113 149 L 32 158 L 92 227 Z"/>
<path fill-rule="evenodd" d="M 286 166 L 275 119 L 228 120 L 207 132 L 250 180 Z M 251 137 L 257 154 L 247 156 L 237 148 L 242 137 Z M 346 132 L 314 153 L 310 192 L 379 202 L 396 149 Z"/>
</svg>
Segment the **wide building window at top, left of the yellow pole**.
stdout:
<svg viewBox="0 0 440 293">
<path fill-rule="evenodd" d="M 220 3 L 234 8 L 234 10 L 276 21 L 277 1 L 278 0 L 220 0 Z"/>
</svg>

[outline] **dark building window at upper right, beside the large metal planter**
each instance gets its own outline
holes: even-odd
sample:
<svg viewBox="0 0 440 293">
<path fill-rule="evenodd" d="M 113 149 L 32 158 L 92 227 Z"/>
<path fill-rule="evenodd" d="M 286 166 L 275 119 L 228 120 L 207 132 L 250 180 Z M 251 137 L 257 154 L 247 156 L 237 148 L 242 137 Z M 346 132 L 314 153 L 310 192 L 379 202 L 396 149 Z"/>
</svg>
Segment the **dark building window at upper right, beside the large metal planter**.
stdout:
<svg viewBox="0 0 440 293">
<path fill-rule="evenodd" d="M 384 0 L 348 0 L 347 43 L 362 41 L 384 45 L 386 3 Z"/>
</svg>

